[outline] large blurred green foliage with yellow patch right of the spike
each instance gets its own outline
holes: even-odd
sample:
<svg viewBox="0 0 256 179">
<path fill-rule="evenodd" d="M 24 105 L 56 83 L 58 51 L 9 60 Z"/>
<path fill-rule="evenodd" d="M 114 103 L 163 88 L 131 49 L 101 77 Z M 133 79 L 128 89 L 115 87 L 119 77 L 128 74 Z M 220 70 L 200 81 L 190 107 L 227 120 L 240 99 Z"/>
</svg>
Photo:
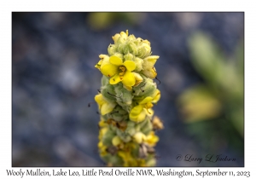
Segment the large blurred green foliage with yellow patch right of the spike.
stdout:
<svg viewBox="0 0 256 179">
<path fill-rule="evenodd" d="M 189 131 L 201 138 L 213 137 L 218 133 L 221 140 L 232 142 L 236 147 L 237 145 L 242 147 L 243 43 L 238 44 L 233 56 L 227 57 L 209 36 L 196 32 L 189 38 L 189 49 L 196 71 L 205 80 L 205 83 L 185 90 L 177 100 L 184 121 L 189 124 Z M 237 138 L 237 136 L 240 137 Z M 207 142 L 212 144 L 213 138 L 208 137 L 205 142 L 201 140 L 203 144 Z M 218 140 L 215 140 L 215 143 L 218 143 Z"/>
</svg>

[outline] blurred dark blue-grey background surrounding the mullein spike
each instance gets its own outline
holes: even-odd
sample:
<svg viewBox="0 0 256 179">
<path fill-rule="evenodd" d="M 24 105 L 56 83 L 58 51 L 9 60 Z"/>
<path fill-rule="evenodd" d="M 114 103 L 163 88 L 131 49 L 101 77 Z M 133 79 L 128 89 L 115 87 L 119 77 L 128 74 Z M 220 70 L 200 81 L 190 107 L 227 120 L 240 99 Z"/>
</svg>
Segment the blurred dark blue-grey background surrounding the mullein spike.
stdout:
<svg viewBox="0 0 256 179">
<path fill-rule="evenodd" d="M 157 166 L 244 166 L 243 13 L 51 12 L 12 14 L 12 165 L 104 166 L 88 103 L 126 30 L 160 55 Z"/>
</svg>

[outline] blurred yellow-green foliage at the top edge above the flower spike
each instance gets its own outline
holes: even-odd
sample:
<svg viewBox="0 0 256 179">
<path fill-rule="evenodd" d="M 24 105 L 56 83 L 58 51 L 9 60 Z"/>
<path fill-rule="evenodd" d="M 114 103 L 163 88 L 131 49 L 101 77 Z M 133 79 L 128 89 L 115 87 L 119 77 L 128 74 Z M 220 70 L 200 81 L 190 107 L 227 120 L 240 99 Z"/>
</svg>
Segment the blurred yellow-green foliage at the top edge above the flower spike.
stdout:
<svg viewBox="0 0 256 179">
<path fill-rule="evenodd" d="M 127 24 L 136 25 L 144 19 L 143 13 L 90 13 L 88 22 L 95 30 L 103 30 L 113 25 L 116 21 L 122 21 Z"/>
</svg>

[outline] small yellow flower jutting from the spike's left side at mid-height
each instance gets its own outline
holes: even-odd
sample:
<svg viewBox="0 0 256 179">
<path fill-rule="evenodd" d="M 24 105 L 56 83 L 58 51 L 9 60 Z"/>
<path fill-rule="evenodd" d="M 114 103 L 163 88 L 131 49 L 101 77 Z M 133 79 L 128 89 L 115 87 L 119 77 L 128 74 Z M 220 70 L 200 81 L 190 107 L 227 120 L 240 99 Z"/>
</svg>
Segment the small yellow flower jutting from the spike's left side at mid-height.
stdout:
<svg viewBox="0 0 256 179">
<path fill-rule="evenodd" d="M 112 112 L 113 108 L 116 106 L 116 103 L 106 101 L 103 98 L 102 94 L 96 95 L 95 101 L 99 105 L 99 109 L 100 109 L 102 115 Z"/>
</svg>

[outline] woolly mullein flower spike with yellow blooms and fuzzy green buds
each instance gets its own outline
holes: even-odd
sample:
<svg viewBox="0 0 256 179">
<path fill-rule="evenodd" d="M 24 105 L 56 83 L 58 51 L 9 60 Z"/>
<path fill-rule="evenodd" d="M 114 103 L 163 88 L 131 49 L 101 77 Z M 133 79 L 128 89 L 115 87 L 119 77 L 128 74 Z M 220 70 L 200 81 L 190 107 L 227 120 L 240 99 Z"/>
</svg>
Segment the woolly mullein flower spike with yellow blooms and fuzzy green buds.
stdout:
<svg viewBox="0 0 256 179">
<path fill-rule="evenodd" d="M 115 34 L 113 42 L 96 64 L 103 74 L 95 96 L 101 114 L 99 153 L 108 166 L 154 166 L 159 141 L 154 132 L 163 128 L 152 109 L 160 100 L 153 81 L 159 56 L 151 55 L 148 40 L 128 31 Z"/>
</svg>

